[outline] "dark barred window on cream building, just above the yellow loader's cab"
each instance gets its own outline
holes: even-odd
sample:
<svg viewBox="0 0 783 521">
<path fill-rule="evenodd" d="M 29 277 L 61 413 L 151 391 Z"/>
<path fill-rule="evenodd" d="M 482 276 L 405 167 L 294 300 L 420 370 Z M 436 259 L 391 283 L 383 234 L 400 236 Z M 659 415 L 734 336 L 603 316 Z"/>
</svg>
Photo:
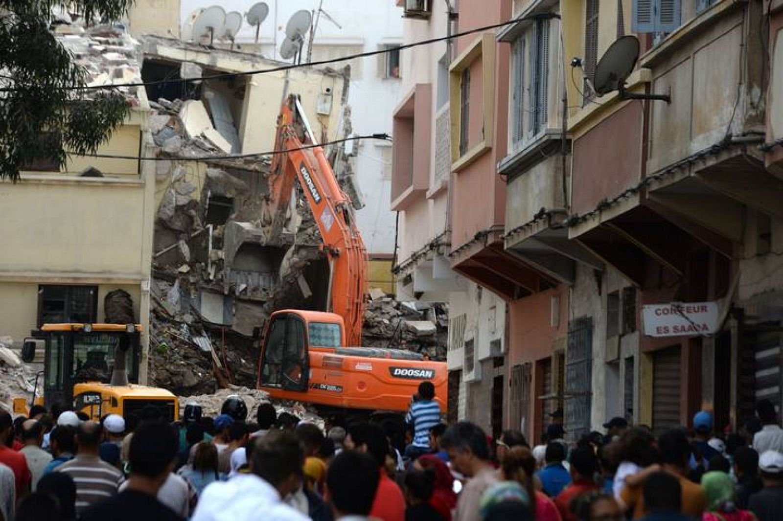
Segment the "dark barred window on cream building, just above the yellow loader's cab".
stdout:
<svg viewBox="0 0 783 521">
<path fill-rule="evenodd" d="M 38 326 L 97 322 L 97 286 L 38 286 Z"/>
</svg>

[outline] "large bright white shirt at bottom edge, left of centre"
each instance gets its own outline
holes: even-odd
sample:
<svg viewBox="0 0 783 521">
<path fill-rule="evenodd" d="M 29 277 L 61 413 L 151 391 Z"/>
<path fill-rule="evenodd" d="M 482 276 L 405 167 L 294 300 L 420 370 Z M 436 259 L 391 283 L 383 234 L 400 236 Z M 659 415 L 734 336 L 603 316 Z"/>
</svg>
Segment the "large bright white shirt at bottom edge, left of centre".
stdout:
<svg viewBox="0 0 783 521">
<path fill-rule="evenodd" d="M 210 483 L 201 493 L 192 521 L 309 521 L 283 503 L 280 494 L 254 474 Z"/>
</svg>

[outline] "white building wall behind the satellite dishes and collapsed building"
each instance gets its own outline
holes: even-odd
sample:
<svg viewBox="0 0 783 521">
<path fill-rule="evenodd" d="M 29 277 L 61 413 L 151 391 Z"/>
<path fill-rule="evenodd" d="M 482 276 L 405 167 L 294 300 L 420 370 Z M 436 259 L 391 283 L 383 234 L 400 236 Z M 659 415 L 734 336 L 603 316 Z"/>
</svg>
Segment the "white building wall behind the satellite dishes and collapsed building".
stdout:
<svg viewBox="0 0 783 521">
<path fill-rule="evenodd" d="M 244 15 L 254 3 L 254 0 L 182 0 L 180 20 L 184 23 L 195 9 L 209 5 L 221 5 L 226 11 Z M 236 36 L 237 48 L 246 52 L 258 49 L 268 58 L 282 60 L 280 43 L 286 38 L 285 27 L 290 16 L 300 9 L 313 11 L 319 5 L 334 22 L 320 16 L 313 42 L 313 61 L 402 43 L 402 8 L 389 0 L 287 0 L 267 4 L 269 16 L 258 32 L 258 46 L 254 45 L 254 27 L 244 20 Z M 348 63 L 352 68 L 348 105 L 352 107 L 354 135 L 391 135 L 391 113 L 400 99 L 400 80 L 383 77 L 385 58 L 368 56 L 334 63 L 335 69 Z M 275 121 L 269 121 L 269 125 L 274 124 Z M 355 145 L 356 180 L 366 205 L 358 211 L 357 223 L 371 257 L 391 255 L 395 243 L 395 213 L 390 209 L 391 143 L 367 140 Z"/>
</svg>

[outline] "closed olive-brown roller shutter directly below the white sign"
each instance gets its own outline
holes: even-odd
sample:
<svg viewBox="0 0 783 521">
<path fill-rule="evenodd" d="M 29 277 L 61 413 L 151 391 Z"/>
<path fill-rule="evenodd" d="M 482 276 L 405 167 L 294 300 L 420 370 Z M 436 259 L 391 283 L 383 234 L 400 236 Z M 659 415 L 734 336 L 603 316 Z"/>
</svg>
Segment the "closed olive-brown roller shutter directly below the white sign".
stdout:
<svg viewBox="0 0 783 521">
<path fill-rule="evenodd" d="M 653 355 L 652 429 L 658 435 L 680 426 L 680 347 L 669 347 Z"/>
</svg>

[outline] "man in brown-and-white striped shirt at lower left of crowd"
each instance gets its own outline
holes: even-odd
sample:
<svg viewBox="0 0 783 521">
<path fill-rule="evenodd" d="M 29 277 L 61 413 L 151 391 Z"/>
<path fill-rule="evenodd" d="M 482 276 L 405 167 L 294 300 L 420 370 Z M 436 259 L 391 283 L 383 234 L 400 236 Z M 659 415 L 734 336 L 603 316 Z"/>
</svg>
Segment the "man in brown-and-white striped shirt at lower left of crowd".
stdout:
<svg viewBox="0 0 783 521">
<path fill-rule="evenodd" d="M 70 462 L 57 467 L 76 483 L 76 511 L 81 516 L 87 508 L 117 494 L 122 483 L 122 473 L 103 462 L 99 448 L 103 429 L 96 422 L 82 422 L 76 433 L 78 451 Z"/>
</svg>

